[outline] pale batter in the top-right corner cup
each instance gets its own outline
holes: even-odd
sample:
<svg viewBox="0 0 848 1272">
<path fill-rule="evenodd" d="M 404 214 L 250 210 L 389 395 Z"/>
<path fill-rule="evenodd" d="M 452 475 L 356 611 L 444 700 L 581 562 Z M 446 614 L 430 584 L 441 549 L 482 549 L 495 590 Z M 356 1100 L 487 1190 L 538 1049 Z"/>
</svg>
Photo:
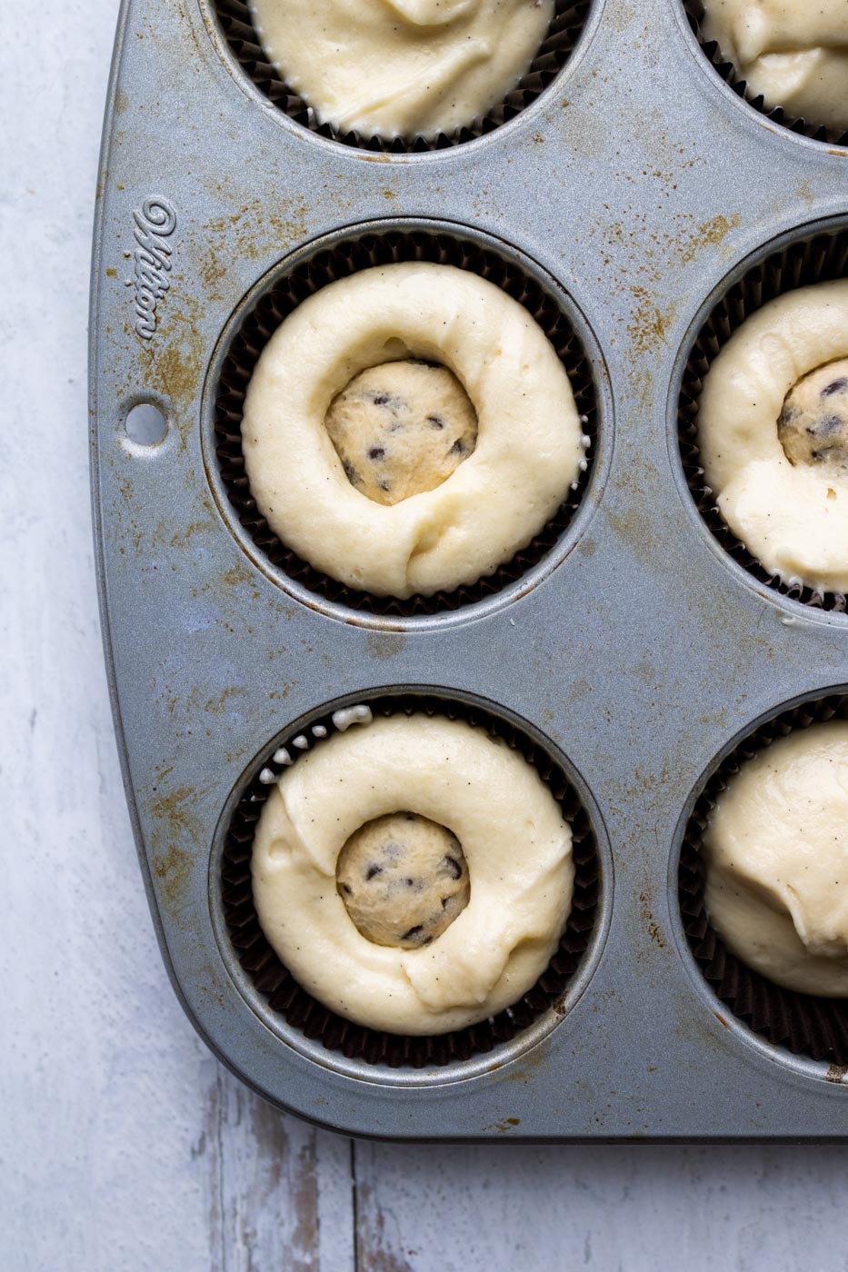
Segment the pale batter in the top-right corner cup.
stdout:
<svg viewBox="0 0 848 1272">
<path fill-rule="evenodd" d="M 704 9 L 707 39 L 769 108 L 848 128 L 845 0 L 704 0 Z"/>
</svg>

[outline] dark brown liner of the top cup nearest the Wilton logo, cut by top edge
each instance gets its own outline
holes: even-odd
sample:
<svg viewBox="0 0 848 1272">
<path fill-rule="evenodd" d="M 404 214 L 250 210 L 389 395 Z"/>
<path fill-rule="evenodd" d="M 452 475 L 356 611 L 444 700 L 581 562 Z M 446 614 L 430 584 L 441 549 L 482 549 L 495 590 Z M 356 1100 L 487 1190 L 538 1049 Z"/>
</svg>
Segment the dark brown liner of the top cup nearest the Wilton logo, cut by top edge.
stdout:
<svg viewBox="0 0 848 1272">
<path fill-rule="evenodd" d="M 488 114 L 472 120 L 467 126 L 456 128 L 451 134 L 441 132 L 435 137 L 405 139 L 363 137 L 358 132 L 340 132 L 331 123 L 321 123 L 312 107 L 284 83 L 279 71 L 269 62 L 244 0 L 215 0 L 214 4 L 218 24 L 236 61 L 278 109 L 318 136 L 330 137 L 345 146 L 383 154 L 446 150 L 449 146 L 461 145 L 463 141 L 481 137 L 514 118 L 531 102 L 535 102 L 563 70 L 583 33 L 590 8 L 590 0 L 581 0 L 577 4 L 556 0 L 548 34 L 530 64 L 527 74 Z"/>
</svg>

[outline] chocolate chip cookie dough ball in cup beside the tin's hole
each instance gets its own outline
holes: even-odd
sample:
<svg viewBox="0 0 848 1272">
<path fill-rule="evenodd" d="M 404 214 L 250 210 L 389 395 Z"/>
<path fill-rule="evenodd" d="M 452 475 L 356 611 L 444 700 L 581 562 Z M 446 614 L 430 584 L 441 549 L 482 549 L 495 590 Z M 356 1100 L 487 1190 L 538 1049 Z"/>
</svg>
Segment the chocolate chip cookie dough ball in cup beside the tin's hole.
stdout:
<svg viewBox="0 0 848 1272">
<path fill-rule="evenodd" d="M 357 375 L 325 426 L 350 485 L 386 505 L 435 490 L 477 441 L 476 411 L 456 375 L 413 360 Z"/>
</svg>

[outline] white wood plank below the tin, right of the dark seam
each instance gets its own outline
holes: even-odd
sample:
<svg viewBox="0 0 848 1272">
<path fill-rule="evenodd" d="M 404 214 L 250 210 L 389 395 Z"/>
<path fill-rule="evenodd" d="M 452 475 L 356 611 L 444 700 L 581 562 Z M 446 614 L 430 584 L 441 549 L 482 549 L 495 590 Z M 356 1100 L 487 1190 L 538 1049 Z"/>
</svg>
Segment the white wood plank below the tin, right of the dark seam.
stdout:
<svg viewBox="0 0 848 1272">
<path fill-rule="evenodd" d="M 357 1145 L 359 1272 L 844 1272 L 847 1149 Z"/>
</svg>

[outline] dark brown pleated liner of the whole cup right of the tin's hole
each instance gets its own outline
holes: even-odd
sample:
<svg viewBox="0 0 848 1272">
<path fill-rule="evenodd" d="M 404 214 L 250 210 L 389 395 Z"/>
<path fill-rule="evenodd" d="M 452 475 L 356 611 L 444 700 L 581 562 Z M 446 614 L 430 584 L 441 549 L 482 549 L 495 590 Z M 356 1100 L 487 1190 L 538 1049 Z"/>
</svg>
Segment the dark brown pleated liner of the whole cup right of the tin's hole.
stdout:
<svg viewBox="0 0 848 1272">
<path fill-rule="evenodd" d="M 590 438 L 586 471 L 568 491 L 551 520 L 521 550 L 471 585 L 432 597 L 373 597 L 330 579 L 314 570 L 286 547 L 270 528 L 256 506 L 244 472 L 242 454 L 242 411 L 244 396 L 262 349 L 302 300 L 334 282 L 374 265 L 401 261 L 429 261 L 455 265 L 480 275 L 502 287 L 536 319 L 556 351 L 572 384 L 577 410 L 583 417 L 583 432 Z M 581 504 L 592 473 L 597 432 L 597 393 L 592 366 L 554 291 L 526 273 L 514 257 L 499 254 L 494 248 L 463 238 L 457 232 L 442 229 L 404 229 L 392 225 L 381 232 L 369 230 L 359 237 L 343 239 L 335 247 L 293 266 L 246 313 L 234 335 L 222 368 L 215 391 L 215 454 L 220 474 L 233 509 L 256 547 L 289 579 L 323 600 L 371 614 L 423 617 L 461 609 L 486 597 L 493 597 L 532 570 L 559 542 Z"/>
</svg>

